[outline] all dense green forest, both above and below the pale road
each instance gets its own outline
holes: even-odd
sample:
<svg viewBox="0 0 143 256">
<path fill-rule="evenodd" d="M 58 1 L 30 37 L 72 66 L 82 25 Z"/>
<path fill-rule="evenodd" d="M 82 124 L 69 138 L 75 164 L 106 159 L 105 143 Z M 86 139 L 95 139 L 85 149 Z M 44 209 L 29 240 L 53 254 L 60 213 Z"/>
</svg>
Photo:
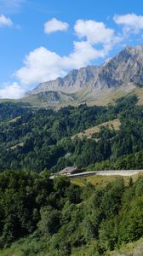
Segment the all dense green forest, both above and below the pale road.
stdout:
<svg viewBox="0 0 143 256">
<path fill-rule="evenodd" d="M 142 236 L 143 177 L 95 187 L 49 178 L 65 166 L 143 168 L 143 106 L 137 102 L 125 96 L 107 107 L 58 111 L 0 104 L 0 255 L 109 255 Z M 113 119 L 117 130 L 101 125 L 90 138 L 76 136 Z M 19 251 L 7 251 L 12 244 Z"/>
</svg>

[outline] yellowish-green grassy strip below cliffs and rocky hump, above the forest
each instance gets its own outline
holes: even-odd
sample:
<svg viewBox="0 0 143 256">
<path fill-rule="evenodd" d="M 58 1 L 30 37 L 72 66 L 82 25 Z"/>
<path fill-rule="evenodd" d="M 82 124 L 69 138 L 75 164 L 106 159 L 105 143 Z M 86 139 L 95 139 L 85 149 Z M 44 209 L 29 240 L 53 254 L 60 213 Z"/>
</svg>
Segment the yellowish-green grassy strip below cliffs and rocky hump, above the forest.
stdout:
<svg viewBox="0 0 143 256">
<path fill-rule="evenodd" d="M 21 100 L 8 100 L 0 99 L 0 102 L 25 102 L 31 104 L 31 107 L 35 108 L 55 108 L 59 109 L 68 105 L 78 106 L 81 103 L 87 103 L 89 106 L 107 106 L 109 103 L 114 102 L 117 98 L 126 95 L 136 94 L 139 97 L 139 104 L 143 102 L 143 88 L 136 87 L 134 89 L 120 88 L 120 89 L 108 89 L 108 90 L 96 90 L 93 92 L 88 92 L 87 90 L 81 90 L 76 94 L 71 94 L 70 96 L 74 101 L 63 101 L 55 104 L 50 104 L 48 102 L 43 102 L 42 99 L 39 100 L 38 96 L 29 96 Z"/>
</svg>

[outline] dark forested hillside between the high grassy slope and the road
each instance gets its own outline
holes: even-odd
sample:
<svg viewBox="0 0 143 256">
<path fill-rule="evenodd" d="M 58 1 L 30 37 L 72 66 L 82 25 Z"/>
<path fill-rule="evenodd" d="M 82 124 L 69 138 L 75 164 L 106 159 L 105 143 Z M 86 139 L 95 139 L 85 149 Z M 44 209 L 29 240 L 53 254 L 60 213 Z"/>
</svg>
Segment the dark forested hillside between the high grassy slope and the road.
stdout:
<svg viewBox="0 0 143 256">
<path fill-rule="evenodd" d="M 31 109 L 16 103 L 0 104 L 0 170 L 52 172 L 65 166 L 87 167 L 103 161 L 118 169 L 143 167 L 140 160 L 123 164 L 129 154 L 140 154 L 143 148 L 143 107 L 136 96 L 118 99 L 108 107 L 66 107 Z M 4 116 L 4 119 L 3 119 Z M 120 130 L 101 127 L 91 139 L 72 139 L 80 131 L 112 119 L 120 120 Z M 138 157 L 138 154 L 136 154 Z M 135 158 L 134 158 L 135 159 Z M 129 161 L 128 161 L 129 160 Z M 102 167 L 103 164 L 101 165 Z M 98 165 L 98 168 L 101 168 Z M 106 167 L 105 167 L 106 168 Z"/>
</svg>

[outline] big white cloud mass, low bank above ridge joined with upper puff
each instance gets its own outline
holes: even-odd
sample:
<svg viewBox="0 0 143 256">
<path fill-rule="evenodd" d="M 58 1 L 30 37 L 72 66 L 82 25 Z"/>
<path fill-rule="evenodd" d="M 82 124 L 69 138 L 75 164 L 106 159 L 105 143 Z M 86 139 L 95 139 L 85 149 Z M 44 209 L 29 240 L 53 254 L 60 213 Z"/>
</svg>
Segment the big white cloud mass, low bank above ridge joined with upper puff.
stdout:
<svg viewBox="0 0 143 256">
<path fill-rule="evenodd" d="M 61 56 L 40 47 L 26 55 L 24 66 L 14 73 L 20 83 L 28 85 L 63 77 L 72 68 L 84 67 L 90 61 L 104 58 L 120 40 L 112 29 L 95 20 L 77 20 L 74 30 L 78 41 L 73 42 L 71 54 Z M 100 44 L 100 49 L 97 44 Z"/>
</svg>

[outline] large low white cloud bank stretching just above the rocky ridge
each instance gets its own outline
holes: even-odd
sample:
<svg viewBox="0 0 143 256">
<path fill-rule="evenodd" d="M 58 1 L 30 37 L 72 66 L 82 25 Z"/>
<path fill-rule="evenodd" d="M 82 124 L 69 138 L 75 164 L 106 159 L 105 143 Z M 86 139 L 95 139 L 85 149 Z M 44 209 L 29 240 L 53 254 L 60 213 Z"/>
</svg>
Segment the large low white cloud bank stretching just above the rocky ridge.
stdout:
<svg viewBox="0 0 143 256">
<path fill-rule="evenodd" d="M 41 83 L 63 77 L 72 68 L 86 66 L 97 58 L 103 58 L 108 53 L 108 48 L 95 49 L 89 42 L 74 42 L 72 54 L 60 56 L 40 47 L 26 55 L 24 67 L 21 67 L 14 76 L 21 84 Z"/>
</svg>

